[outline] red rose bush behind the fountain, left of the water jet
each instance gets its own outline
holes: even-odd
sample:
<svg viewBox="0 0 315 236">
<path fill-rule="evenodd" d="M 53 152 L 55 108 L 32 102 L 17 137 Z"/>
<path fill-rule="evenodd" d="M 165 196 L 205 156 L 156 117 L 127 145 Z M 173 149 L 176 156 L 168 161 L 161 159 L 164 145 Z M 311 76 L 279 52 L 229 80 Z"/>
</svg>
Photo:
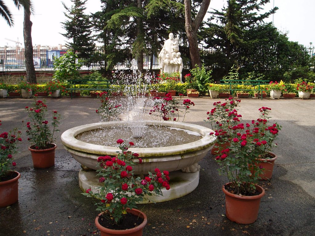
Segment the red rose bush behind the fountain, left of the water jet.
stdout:
<svg viewBox="0 0 315 236">
<path fill-rule="evenodd" d="M 121 113 L 121 104 L 115 105 L 109 99 L 107 92 L 96 93 L 100 99 L 101 105 L 96 109 L 96 113 L 101 115 L 102 121 L 117 121 L 118 115 Z"/>
</svg>

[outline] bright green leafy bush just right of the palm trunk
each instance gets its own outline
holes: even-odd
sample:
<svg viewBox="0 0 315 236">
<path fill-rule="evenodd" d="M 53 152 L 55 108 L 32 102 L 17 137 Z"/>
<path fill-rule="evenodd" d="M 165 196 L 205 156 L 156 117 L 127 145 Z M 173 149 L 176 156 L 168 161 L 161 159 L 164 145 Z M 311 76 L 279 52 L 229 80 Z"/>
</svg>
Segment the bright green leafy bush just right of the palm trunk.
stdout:
<svg viewBox="0 0 315 236">
<path fill-rule="evenodd" d="M 72 50 L 68 50 L 64 55 L 56 58 L 54 61 L 55 73 L 53 77 L 61 82 L 78 79 L 80 77 L 78 70 L 81 66 L 77 64 L 77 58 L 77 55 Z"/>
</svg>

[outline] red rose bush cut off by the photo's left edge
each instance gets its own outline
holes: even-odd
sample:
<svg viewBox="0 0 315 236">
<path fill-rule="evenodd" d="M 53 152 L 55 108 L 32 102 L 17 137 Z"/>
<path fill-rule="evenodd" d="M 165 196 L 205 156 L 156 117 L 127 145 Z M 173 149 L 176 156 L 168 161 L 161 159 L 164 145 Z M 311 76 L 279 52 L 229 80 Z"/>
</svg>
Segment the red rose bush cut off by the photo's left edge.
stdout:
<svg viewBox="0 0 315 236">
<path fill-rule="evenodd" d="M 6 176 L 11 170 L 11 167 L 16 166 L 16 163 L 13 161 L 13 154 L 16 152 L 17 141 L 22 141 L 20 134 L 21 132 L 16 129 L 0 134 L 0 182 L 2 177 Z"/>
</svg>

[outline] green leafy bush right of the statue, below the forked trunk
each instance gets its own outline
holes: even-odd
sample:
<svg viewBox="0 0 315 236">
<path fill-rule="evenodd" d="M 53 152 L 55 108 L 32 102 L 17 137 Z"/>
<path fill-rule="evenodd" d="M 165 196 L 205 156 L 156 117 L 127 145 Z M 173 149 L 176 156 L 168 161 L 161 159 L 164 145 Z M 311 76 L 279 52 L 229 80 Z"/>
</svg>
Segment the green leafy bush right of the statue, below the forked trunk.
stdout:
<svg viewBox="0 0 315 236">
<path fill-rule="evenodd" d="M 196 80 L 198 91 L 200 91 L 204 95 L 206 92 L 208 92 L 208 87 L 206 84 L 213 81 L 211 80 L 212 70 L 206 72 L 206 68 L 203 64 L 201 68 L 199 68 L 198 65 L 195 65 L 195 68 L 190 70 L 190 72 Z"/>
</svg>

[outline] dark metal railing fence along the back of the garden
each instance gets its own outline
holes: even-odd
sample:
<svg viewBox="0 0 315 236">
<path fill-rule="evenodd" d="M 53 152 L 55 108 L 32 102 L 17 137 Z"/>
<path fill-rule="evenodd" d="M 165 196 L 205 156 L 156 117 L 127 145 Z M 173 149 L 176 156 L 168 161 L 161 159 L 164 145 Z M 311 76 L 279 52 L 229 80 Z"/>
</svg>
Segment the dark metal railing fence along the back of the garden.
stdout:
<svg viewBox="0 0 315 236">
<path fill-rule="evenodd" d="M 306 47 L 305 49 L 311 57 L 315 56 L 315 47 Z M 215 53 L 220 48 L 199 48 L 201 53 L 209 54 Z M 96 53 L 102 53 L 101 49 L 96 49 Z M 33 51 L 33 60 L 36 70 L 53 70 L 54 59 L 59 58 L 66 53 L 65 50 L 47 50 L 35 49 Z M 151 55 L 144 54 L 143 68 L 148 70 L 151 67 Z M 105 61 L 100 60 L 91 64 L 90 66 L 82 66 L 82 70 L 92 70 L 104 68 Z M 115 70 L 127 70 L 131 67 L 131 59 L 126 59 L 124 62 L 117 63 Z M 153 55 L 152 69 L 159 69 L 157 56 Z M 189 69 L 189 64 L 184 65 L 184 69 Z M 24 48 L 4 49 L 0 50 L 0 71 L 25 70 Z"/>
</svg>

